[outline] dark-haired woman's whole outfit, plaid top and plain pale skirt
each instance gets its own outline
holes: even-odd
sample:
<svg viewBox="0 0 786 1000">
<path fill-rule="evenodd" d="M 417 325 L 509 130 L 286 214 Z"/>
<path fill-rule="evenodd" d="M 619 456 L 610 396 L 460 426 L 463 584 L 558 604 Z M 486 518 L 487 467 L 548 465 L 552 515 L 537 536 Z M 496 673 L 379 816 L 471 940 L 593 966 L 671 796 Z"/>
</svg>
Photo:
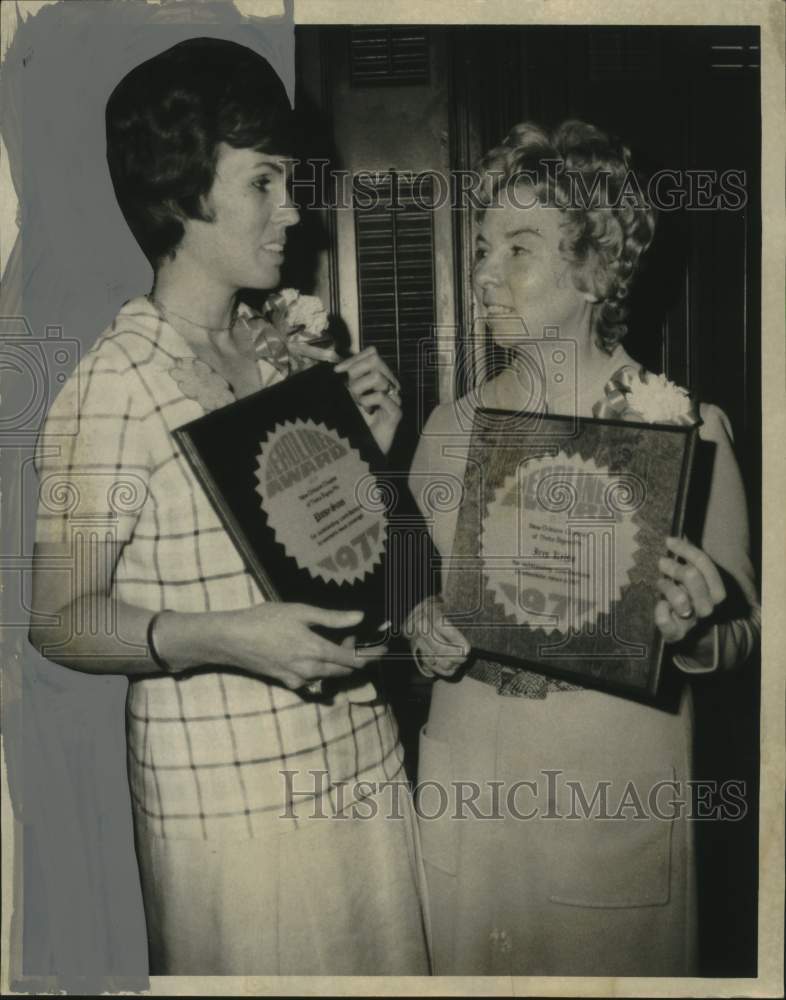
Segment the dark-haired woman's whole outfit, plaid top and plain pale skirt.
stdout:
<svg viewBox="0 0 786 1000">
<path fill-rule="evenodd" d="M 38 540 L 114 539 L 112 593 L 151 611 L 263 601 L 172 437 L 204 413 L 194 360 L 151 302 L 132 300 L 64 386 L 37 451 Z M 263 385 L 283 377 L 259 370 Z M 227 386 L 213 382 L 220 405 Z M 398 818 L 382 805 L 372 819 L 330 818 L 373 800 L 359 782 L 406 782 L 391 710 L 373 686 L 359 690 L 322 704 L 219 669 L 130 682 L 151 973 L 428 971 L 408 791 Z"/>
</svg>

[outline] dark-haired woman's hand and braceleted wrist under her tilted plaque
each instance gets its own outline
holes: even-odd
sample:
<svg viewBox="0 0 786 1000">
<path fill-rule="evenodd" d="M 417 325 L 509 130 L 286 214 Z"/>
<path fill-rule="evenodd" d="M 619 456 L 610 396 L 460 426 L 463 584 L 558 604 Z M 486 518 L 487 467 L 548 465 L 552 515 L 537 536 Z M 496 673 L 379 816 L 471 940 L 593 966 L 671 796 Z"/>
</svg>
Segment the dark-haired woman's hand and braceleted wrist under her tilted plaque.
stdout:
<svg viewBox="0 0 786 1000">
<path fill-rule="evenodd" d="M 167 641 L 167 625 L 176 628 L 176 618 L 164 616 L 156 630 L 156 645 L 167 659 L 167 648 L 180 645 Z M 238 667 L 250 674 L 272 678 L 291 690 L 324 677 L 348 677 L 370 660 L 386 652 L 384 646 L 355 649 L 351 637 L 340 645 L 325 639 L 313 626 L 345 629 L 358 625 L 361 611 L 328 611 L 307 604 L 268 601 L 242 611 L 219 611 L 200 616 L 204 635 L 195 637 L 202 662 Z M 159 637 L 160 630 L 160 637 Z M 206 647 L 206 648 L 204 648 Z M 178 669 L 177 662 L 171 664 Z M 181 665 L 181 669 L 187 669 Z"/>
</svg>

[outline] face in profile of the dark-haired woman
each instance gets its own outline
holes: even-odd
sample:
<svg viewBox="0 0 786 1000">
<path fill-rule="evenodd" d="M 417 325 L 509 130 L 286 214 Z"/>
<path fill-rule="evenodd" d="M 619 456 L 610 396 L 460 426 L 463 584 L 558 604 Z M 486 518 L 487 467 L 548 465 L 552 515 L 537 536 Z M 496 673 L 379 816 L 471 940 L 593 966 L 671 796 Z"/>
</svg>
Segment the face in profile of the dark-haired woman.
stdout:
<svg viewBox="0 0 786 1000">
<path fill-rule="evenodd" d="M 300 218 L 289 196 L 286 159 L 219 143 L 205 208 L 212 221 L 184 220 L 177 255 L 205 281 L 231 292 L 275 288 L 287 228 Z"/>
</svg>

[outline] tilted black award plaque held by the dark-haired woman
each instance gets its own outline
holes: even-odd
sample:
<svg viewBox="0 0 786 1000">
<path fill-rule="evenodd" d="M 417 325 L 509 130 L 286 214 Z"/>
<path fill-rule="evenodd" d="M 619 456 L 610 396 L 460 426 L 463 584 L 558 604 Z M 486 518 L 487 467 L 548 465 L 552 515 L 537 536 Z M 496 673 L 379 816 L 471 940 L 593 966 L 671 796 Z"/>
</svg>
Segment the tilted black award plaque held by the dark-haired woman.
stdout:
<svg viewBox="0 0 786 1000">
<path fill-rule="evenodd" d="M 379 641 L 426 596 L 431 543 L 406 477 L 386 470 L 332 366 L 174 434 L 268 600 L 361 610 L 353 633 Z"/>
</svg>

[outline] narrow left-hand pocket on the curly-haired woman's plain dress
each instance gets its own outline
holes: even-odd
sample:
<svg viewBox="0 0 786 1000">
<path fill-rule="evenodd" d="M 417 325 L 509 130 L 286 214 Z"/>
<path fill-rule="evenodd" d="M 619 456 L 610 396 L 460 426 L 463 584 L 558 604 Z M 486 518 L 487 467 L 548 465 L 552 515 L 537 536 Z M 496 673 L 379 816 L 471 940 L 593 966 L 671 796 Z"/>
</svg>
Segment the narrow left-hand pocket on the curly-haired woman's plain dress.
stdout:
<svg viewBox="0 0 786 1000">
<path fill-rule="evenodd" d="M 420 731 L 416 808 L 423 860 L 446 875 L 458 870 L 458 820 L 450 744 Z"/>
</svg>

